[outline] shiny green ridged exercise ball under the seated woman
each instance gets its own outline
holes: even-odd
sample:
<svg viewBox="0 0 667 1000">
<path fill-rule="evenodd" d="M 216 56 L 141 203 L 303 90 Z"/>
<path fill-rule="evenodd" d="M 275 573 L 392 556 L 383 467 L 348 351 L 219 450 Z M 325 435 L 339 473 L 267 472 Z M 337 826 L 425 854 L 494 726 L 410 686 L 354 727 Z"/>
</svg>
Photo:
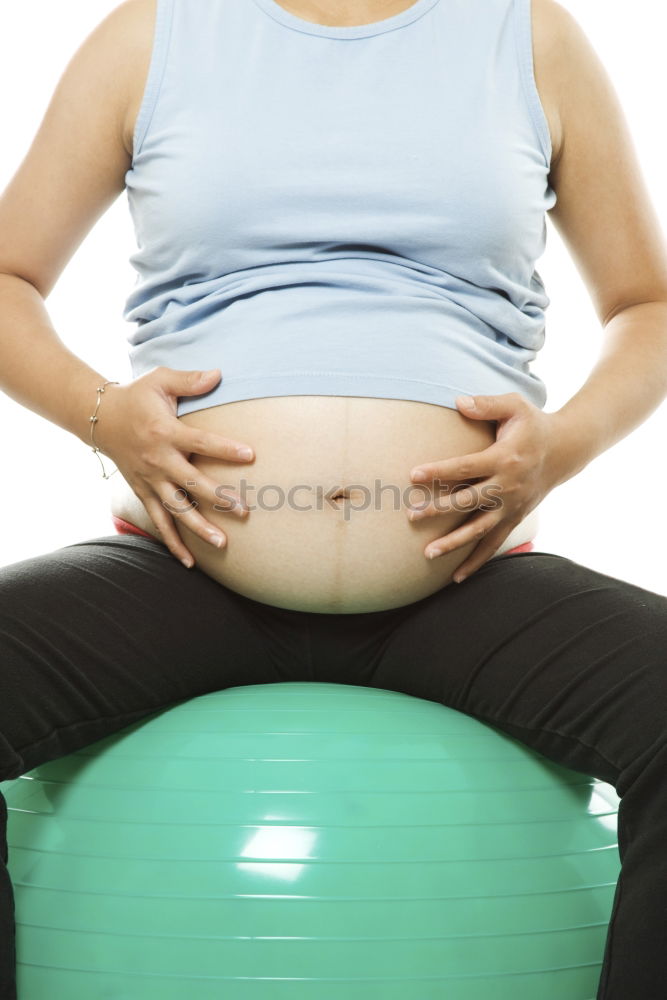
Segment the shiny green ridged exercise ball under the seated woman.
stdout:
<svg viewBox="0 0 667 1000">
<path fill-rule="evenodd" d="M 0 785 L 19 1000 L 592 1000 L 619 799 L 379 688 L 179 702 Z"/>
</svg>

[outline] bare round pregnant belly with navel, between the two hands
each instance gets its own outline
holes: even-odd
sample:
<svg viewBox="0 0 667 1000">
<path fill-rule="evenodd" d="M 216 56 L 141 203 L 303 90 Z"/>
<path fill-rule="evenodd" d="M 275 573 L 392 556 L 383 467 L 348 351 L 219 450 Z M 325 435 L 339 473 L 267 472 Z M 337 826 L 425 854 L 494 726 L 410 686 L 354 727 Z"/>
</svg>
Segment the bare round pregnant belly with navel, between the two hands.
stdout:
<svg viewBox="0 0 667 1000">
<path fill-rule="evenodd" d="M 430 403 L 359 396 L 262 397 L 179 419 L 254 450 L 251 463 L 190 458 L 249 508 L 241 520 L 200 506 L 222 528 L 225 548 L 204 542 L 175 516 L 199 569 L 253 600 L 327 614 L 400 607 L 449 584 L 477 544 L 427 559 L 430 541 L 472 515 L 454 510 L 411 522 L 410 504 L 433 494 L 430 485 L 425 492 L 412 483 L 410 471 L 488 447 L 495 440 L 491 421 Z M 112 513 L 162 540 L 125 480 L 114 480 Z M 533 538 L 534 515 L 493 558 Z"/>
</svg>

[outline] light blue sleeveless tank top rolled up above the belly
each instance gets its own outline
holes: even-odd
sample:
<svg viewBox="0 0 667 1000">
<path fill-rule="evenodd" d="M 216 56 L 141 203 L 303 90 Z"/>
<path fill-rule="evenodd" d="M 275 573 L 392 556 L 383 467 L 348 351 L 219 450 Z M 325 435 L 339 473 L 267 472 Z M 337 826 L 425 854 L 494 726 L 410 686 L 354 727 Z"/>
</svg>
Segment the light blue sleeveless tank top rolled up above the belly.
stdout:
<svg viewBox="0 0 667 1000">
<path fill-rule="evenodd" d="M 556 193 L 530 2 L 330 27 L 276 0 L 157 0 L 125 177 L 133 376 L 219 368 L 179 416 L 303 394 L 543 407 Z"/>
</svg>

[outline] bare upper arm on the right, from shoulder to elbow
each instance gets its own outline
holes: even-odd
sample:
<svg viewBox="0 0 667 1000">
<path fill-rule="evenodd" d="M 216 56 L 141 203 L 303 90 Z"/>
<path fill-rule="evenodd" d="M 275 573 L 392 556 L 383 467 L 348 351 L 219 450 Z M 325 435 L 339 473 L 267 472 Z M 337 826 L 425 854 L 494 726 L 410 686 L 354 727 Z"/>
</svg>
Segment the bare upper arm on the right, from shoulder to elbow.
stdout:
<svg viewBox="0 0 667 1000">
<path fill-rule="evenodd" d="M 558 0 L 531 2 L 536 83 L 539 74 L 558 122 L 549 217 L 605 325 L 628 305 L 665 298 L 667 246 L 623 101 L 594 42 Z"/>
</svg>

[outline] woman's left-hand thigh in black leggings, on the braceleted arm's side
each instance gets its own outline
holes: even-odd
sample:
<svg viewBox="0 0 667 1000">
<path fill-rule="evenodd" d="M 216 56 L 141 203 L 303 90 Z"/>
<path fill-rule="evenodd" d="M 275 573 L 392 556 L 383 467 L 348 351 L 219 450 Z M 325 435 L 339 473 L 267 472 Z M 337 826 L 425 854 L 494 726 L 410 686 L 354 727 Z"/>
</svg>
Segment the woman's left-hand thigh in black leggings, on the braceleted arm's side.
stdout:
<svg viewBox="0 0 667 1000">
<path fill-rule="evenodd" d="M 0 780 L 211 690 L 293 680 L 298 630 L 157 540 L 112 535 L 0 569 Z"/>
</svg>

